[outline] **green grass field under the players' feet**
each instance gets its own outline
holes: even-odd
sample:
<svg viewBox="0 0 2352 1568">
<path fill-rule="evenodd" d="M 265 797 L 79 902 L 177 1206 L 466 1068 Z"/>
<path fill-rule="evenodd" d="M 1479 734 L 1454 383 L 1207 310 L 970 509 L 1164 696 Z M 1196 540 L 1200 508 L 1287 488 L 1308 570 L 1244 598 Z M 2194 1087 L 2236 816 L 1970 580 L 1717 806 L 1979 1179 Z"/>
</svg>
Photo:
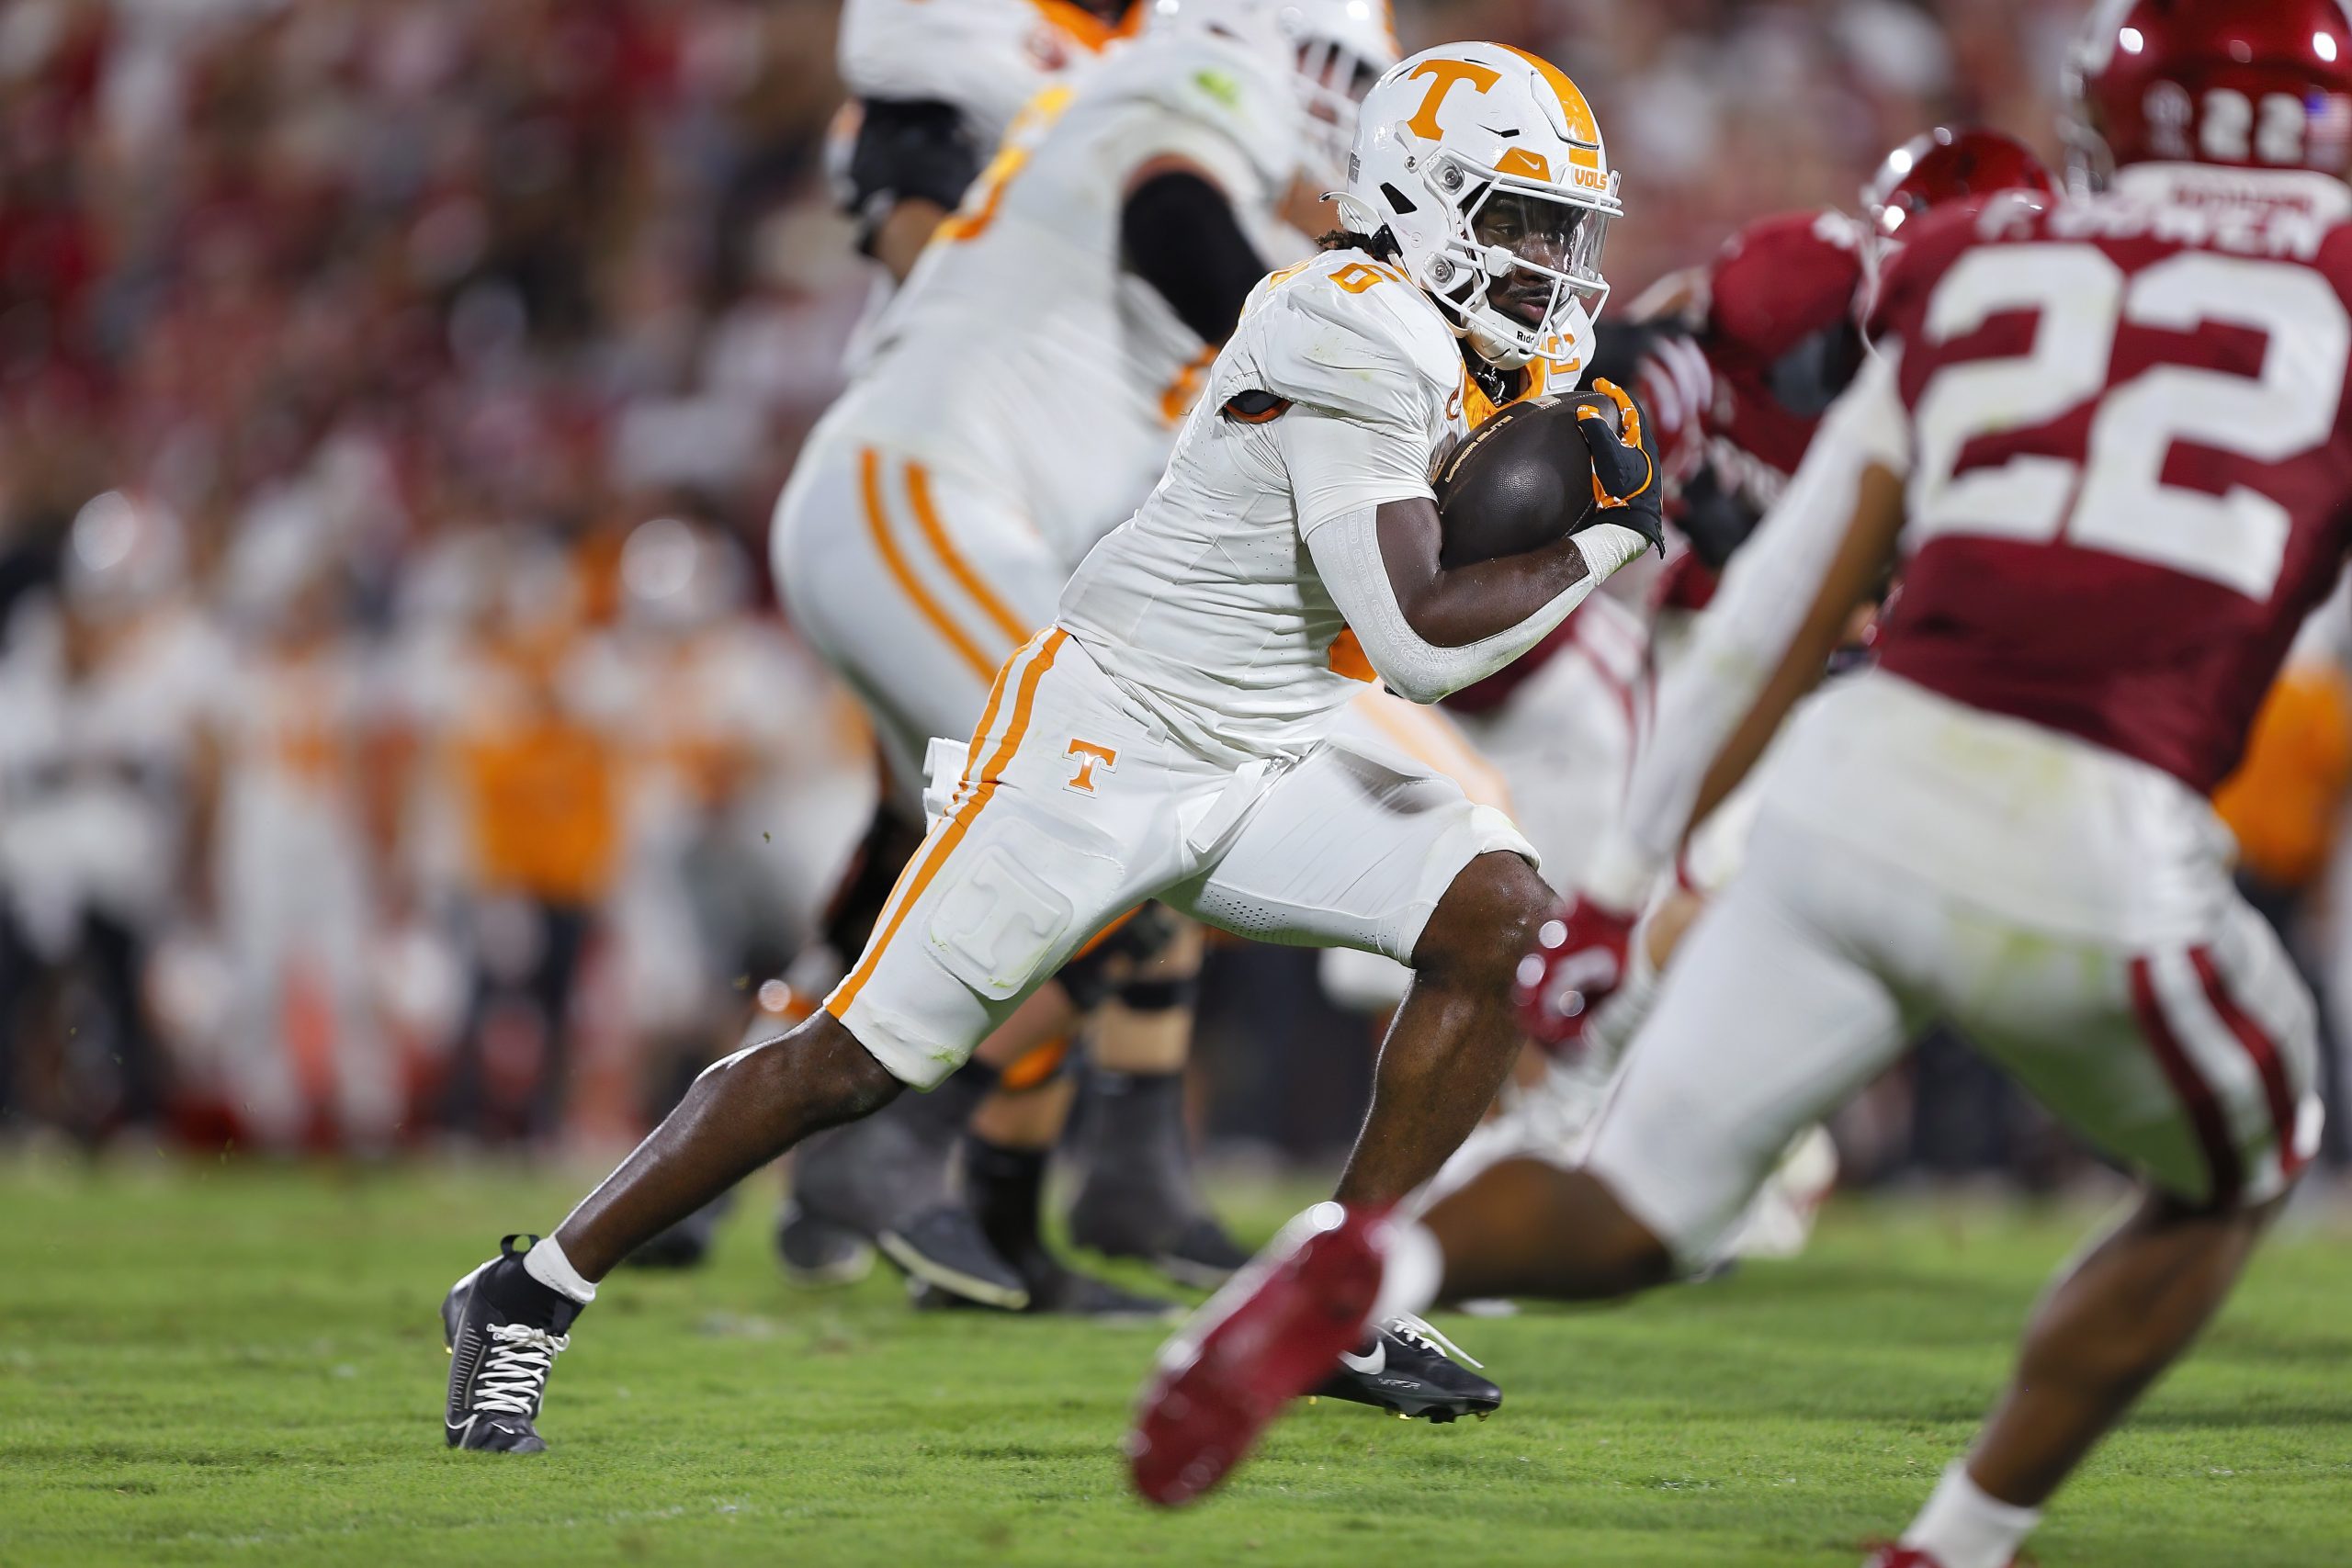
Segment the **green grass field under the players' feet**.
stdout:
<svg viewBox="0 0 2352 1568">
<path fill-rule="evenodd" d="M 536 1460 L 442 1448 L 435 1305 L 569 1180 L 0 1171 L 0 1563 L 1842 1563 L 1969 1436 L 2079 1215 L 1844 1206 L 1811 1255 L 1451 1321 L 1491 1422 L 1322 1403 L 1209 1505 L 1124 1490 L 1155 1328 L 621 1276 Z M 1270 1201 L 1249 1213 L 1261 1232 Z M 2281 1239 L 2060 1497 L 2049 1566 L 2352 1561 L 2352 1237 Z"/>
</svg>

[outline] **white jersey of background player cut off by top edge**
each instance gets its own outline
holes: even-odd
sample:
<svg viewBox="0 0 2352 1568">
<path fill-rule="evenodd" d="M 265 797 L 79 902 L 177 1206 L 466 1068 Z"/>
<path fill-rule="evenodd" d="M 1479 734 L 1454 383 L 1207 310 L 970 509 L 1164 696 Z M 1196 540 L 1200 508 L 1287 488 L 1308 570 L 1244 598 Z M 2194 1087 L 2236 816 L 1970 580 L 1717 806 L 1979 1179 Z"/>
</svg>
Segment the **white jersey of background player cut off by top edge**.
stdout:
<svg viewBox="0 0 2352 1568">
<path fill-rule="evenodd" d="M 953 103 L 995 143 L 1023 103 L 1112 35 L 1068 0 L 849 0 L 837 59 L 851 94 Z"/>
</svg>

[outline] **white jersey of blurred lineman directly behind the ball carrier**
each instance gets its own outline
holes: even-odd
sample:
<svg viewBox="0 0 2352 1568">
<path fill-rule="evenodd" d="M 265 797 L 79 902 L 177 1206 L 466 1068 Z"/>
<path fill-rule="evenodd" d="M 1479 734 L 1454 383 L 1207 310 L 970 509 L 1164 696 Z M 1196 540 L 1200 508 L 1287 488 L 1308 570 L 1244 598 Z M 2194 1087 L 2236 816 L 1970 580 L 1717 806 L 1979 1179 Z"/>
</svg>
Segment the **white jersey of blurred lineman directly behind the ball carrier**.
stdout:
<svg viewBox="0 0 2352 1568">
<path fill-rule="evenodd" d="M 1183 160 L 1270 223 L 1298 113 L 1284 61 L 1204 35 L 1049 89 L 931 237 L 828 430 L 1004 498 L 1075 564 L 1160 477 L 1211 357 L 1122 266 L 1129 186 Z"/>
</svg>

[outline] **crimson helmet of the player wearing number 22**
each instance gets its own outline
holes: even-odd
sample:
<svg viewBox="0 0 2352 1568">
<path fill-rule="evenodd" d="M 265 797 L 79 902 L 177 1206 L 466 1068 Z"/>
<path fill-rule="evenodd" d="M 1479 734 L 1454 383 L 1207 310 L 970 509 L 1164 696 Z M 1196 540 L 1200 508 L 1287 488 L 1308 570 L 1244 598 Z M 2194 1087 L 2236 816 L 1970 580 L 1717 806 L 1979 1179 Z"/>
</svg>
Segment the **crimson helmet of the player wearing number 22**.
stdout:
<svg viewBox="0 0 2352 1568">
<path fill-rule="evenodd" d="M 2352 0 L 2100 0 L 2067 56 L 2077 186 L 2133 162 L 2352 167 Z"/>
</svg>

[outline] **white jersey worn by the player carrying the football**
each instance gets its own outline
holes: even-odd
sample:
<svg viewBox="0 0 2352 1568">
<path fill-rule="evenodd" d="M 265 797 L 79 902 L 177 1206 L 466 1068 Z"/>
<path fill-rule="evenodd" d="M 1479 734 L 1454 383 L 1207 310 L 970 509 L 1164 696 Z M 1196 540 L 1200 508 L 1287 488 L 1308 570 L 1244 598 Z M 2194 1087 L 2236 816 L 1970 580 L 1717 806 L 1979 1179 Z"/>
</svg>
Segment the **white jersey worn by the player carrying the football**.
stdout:
<svg viewBox="0 0 2352 1568">
<path fill-rule="evenodd" d="M 1465 416 L 1465 390 L 1454 331 L 1404 273 L 1362 252 L 1275 273 L 1209 371 L 1167 477 L 1070 578 L 1061 625 L 1204 757 L 1303 752 L 1369 679 L 1303 524 L 1428 496 L 1439 447 L 1482 411 Z M 1287 407 L 1263 423 L 1223 414 L 1242 393 Z M 1317 418 L 1376 433 L 1376 458 L 1343 491 L 1296 496 L 1284 447 Z"/>
</svg>

